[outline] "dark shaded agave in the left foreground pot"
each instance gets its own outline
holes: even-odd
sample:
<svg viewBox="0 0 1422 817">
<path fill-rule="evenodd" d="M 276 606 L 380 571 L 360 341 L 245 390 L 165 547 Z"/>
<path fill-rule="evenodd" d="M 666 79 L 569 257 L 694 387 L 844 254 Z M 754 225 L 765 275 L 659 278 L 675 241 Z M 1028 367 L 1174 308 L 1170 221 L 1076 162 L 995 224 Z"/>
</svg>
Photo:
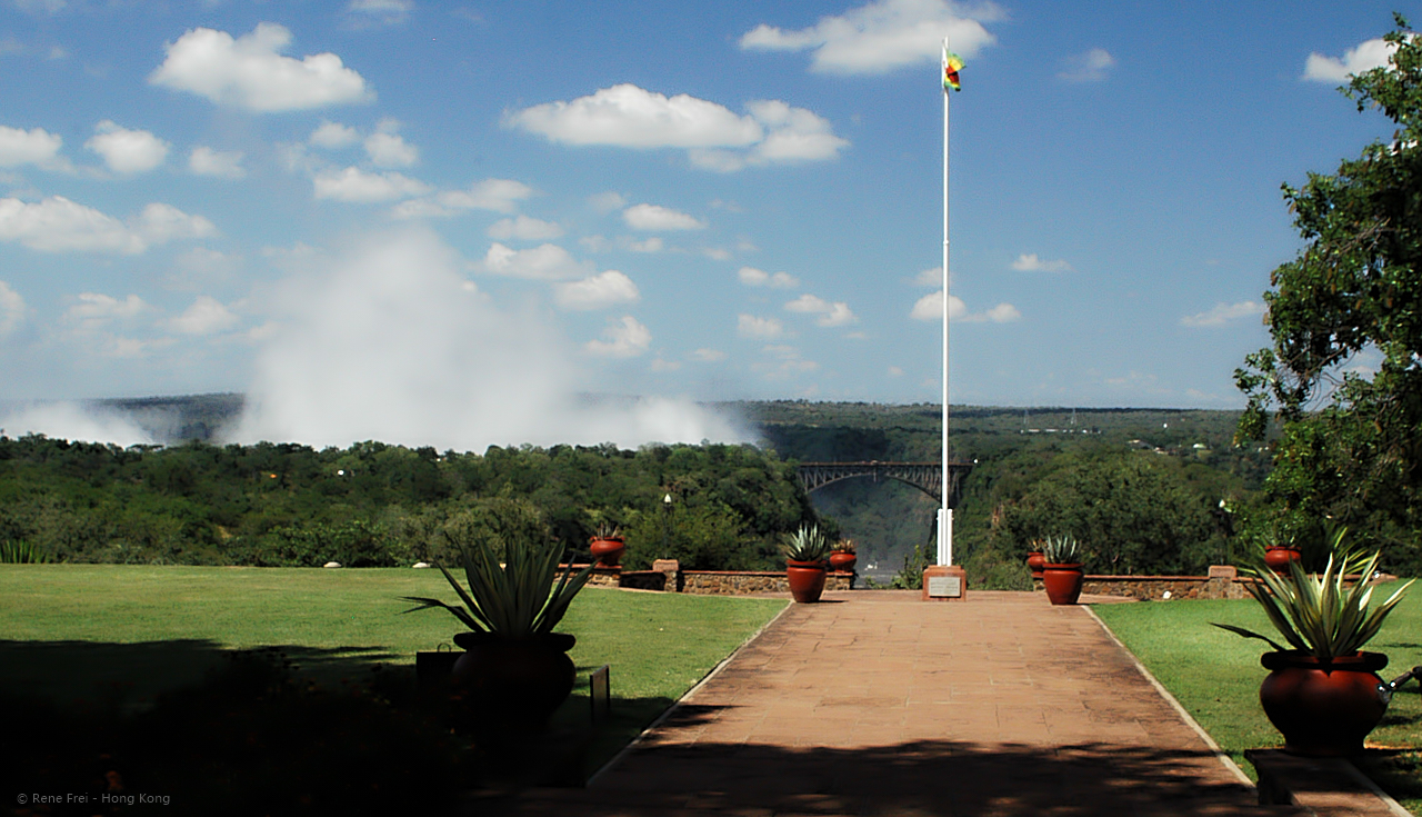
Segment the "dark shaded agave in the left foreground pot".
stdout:
<svg viewBox="0 0 1422 817">
<path fill-rule="evenodd" d="M 501 566 L 498 549 L 486 538 L 472 548 L 459 547 L 468 592 L 437 561 L 435 565 L 464 606 L 424 596 L 402 596 L 405 601 L 419 602 L 419 606 L 405 612 L 444 608 L 469 629 L 506 639 L 528 639 L 553 632 L 557 622 L 563 621 L 573 596 L 592 578 L 593 565 L 576 575 L 573 565 L 567 565 L 562 578 L 557 578 L 557 559 L 563 548 L 553 539 L 506 541 L 502 551 L 505 564 Z"/>
</svg>

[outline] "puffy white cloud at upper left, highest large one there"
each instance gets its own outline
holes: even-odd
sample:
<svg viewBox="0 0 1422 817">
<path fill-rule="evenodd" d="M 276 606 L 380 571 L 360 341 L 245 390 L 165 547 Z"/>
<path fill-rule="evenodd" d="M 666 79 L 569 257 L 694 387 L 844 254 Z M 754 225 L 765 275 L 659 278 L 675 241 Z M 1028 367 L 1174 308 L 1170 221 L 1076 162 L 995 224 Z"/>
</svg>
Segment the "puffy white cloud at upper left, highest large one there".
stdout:
<svg viewBox="0 0 1422 817">
<path fill-rule="evenodd" d="M 303 60 L 283 57 L 280 51 L 290 44 L 292 33 L 276 23 L 257 23 L 236 40 L 226 31 L 192 28 L 166 47 L 168 57 L 148 81 L 218 104 L 266 112 L 375 98 L 365 80 L 336 54 L 311 54 Z"/>
</svg>

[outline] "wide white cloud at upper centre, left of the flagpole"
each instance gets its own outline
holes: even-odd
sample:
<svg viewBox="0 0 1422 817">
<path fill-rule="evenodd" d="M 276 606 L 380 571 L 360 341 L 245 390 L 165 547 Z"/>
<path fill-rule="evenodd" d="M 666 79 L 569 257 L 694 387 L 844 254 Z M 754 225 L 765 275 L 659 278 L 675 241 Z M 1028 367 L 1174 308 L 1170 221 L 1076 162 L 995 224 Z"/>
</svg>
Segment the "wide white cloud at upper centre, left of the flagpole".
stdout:
<svg viewBox="0 0 1422 817">
<path fill-rule="evenodd" d="M 688 94 L 667 97 L 633 84 L 602 88 L 570 102 L 546 102 L 510 112 L 505 125 L 567 145 L 685 148 L 704 169 L 823 161 L 849 142 L 829 121 L 776 100 L 757 100 L 748 114 Z"/>
</svg>

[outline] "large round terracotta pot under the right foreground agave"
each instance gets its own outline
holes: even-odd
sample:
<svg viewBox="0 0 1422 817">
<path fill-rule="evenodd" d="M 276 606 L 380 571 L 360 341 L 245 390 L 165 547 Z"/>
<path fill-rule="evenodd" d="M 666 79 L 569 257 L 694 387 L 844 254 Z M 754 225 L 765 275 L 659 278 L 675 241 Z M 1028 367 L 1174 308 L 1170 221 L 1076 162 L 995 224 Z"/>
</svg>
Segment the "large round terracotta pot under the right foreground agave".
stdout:
<svg viewBox="0 0 1422 817">
<path fill-rule="evenodd" d="M 1362 739 L 1382 720 L 1388 703 L 1378 695 L 1376 672 L 1388 665 L 1379 652 L 1320 662 L 1298 652 L 1260 658 L 1268 678 L 1258 687 L 1264 715 L 1284 734 L 1284 750 L 1313 757 L 1362 752 Z"/>
</svg>

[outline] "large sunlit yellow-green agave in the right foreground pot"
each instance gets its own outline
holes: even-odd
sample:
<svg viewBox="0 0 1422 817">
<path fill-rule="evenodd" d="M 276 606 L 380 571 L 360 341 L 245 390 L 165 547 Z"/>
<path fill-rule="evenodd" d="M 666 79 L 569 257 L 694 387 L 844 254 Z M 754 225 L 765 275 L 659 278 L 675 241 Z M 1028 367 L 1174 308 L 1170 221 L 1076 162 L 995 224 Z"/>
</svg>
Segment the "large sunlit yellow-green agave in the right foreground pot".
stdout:
<svg viewBox="0 0 1422 817">
<path fill-rule="evenodd" d="M 1351 656 L 1378 635 L 1384 619 L 1402 601 L 1402 594 L 1412 582 L 1398 588 L 1388 601 L 1368 606 L 1372 588 L 1368 578 L 1378 569 L 1381 551 L 1364 554 L 1342 544 L 1345 529 L 1332 538 L 1332 555 L 1328 565 L 1317 576 L 1304 572 L 1300 564 L 1288 564 L 1288 575 L 1281 576 L 1264 565 L 1247 565 L 1240 572 L 1254 576 L 1258 582 L 1249 585 L 1250 595 L 1264 608 L 1274 629 L 1284 636 L 1293 649 L 1313 655 L 1320 660 Z M 1347 586 L 1345 576 L 1357 575 L 1358 581 Z M 1276 650 L 1288 648 L 1274 639 L 1241 626 L 1216 623 L 1244 638 L 1268 642 Z"/>
</svg>

